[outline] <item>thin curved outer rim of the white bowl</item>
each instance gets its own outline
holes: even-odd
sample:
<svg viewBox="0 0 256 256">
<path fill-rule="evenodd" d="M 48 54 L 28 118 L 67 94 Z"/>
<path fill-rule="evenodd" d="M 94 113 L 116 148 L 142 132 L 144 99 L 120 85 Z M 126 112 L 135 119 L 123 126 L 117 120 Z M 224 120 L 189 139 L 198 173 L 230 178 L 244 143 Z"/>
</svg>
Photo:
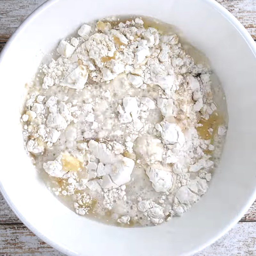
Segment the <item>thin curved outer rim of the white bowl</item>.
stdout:
<svg viewBox="0 0 256 256">
<path fill-rule="evenodd" d="M 20 32 L 22 32 L 23 29 L 25 29 L 33 20 L 39 15 L 41 12 L 45 11 L 47 8 L 49 8 L 51 5 L 59 2 L 60 0 L 46 0 L 43 4 L 41 4 L 39 7 L 37 7 L 31 14 L 28 15 L 28 17 L 20 24 L 20 26 L 14 31 L 12 36 L 8 39 L 8 41 L 5 43 L 4 48 L 0 54 L 0 64 L 4 58 L 4 55 L 12 45 L 12 42 L 15 40 L 15 38 L 18 36 Z M 223 15 L 230 23 L 233 25 L 236 30 L 239 32 L 239 34 L 243 37 L 244 41 L 250 48 L 251 52 L 253 53 L 254 57 L 256 58 L 256 44 L 250 35 L 250 33 L 244 28 L 244 26 L 236 19 L 236 17 L 231 14 L 225 7 L 223 7 L 221 4 L 219 4 L 215 0 L 200 0 L 204 1 L 206 4 L 212 6 L 217 12 L 219 12 L 221 15 Z M 47 238 L 38 230 L 35 228 L 30 222 L 19 212 L 19 209 L 13 204 L 11 198 L 6 193 L 4 186 L 2 182 L 0 181 L 0 192 L 2 193 L 2 196 L 4 197 L 7 204 L 10 206 L 12 211 L 15 213 L 15 215 L 21 220 L 21 222 L 36 236 L 38 236 L 41 240 L 43 240 L 45 243 L 52 246 L 54 249 L 68 255 L 68 256 L 74 256 L 77 255 L 74 252 L 70 252 L 68 248 L 65 248 L 61 246 L 60 244 L 54 242 L 53 240 Z M 244 216 L 246 211 L 250 208 L 250 206 L 253 204 L 253 202 L 256 199 L 256 188 L 254 189 L 252 195 L 250 198 L 248 198 L 247 203 L 244 205 L 244 207 L 240 210 L 240 213 L 237 214 L 235 218 L 233 218 L 228 225 L 226 225 L 225 228 L 223 228 L 222 232 L 220 232 L 218 235 L 212 237 L 212 239 L 209 239 L 206 243 L 198 246 L 194 251 L 189 252 L 187 255 L 193 255 L 207 246 L 213 244 L 216 242 L 220 237 L 224 236 L 231 228 L 233 228 L 237 222 Z"/>
</svg>

